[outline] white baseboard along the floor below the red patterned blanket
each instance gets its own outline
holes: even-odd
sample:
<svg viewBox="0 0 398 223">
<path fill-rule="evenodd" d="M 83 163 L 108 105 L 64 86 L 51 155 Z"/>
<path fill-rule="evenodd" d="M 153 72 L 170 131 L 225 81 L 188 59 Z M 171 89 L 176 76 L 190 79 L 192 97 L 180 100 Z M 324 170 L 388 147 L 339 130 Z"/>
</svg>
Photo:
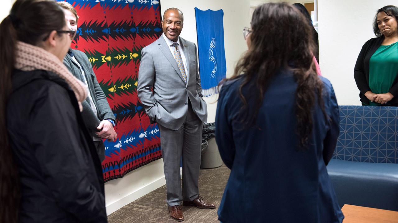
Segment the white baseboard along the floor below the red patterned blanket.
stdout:
<svg viewBox="0 0 398 223">
<path fill-rule="evenodd" d="M 166 184 L 166 179 L 164 177 L 161 177 L 160 179 L 143 186 L 142 188 L 132 192 L 131 194 L 113 202 L 112 204 L 108 204 L 106 206 L 106 213 L 107 215 L 110 215 L 111 213 L 119 210 L 123 206 L 130 204 L 131 202 L 137 200 L 138 198 L 144 196 L 145 194 L 148 194 L 152 190 L 156 190 L 157 188 L 163 186 Z"/>
</svg>

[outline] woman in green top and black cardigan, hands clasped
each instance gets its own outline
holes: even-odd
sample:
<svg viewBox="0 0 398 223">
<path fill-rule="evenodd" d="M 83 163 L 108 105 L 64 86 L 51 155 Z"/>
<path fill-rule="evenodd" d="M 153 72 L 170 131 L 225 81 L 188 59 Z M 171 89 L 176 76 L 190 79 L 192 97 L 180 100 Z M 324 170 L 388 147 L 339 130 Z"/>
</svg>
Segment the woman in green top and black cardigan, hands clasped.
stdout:
<svg viewBox="0 0 398 223">
<path fill-rule="evenodd" d="M 398 7 L 377 11 L 373 30 L 359 53 L 354 78 L 362 105 L 398 106 Z"/>
</svg>

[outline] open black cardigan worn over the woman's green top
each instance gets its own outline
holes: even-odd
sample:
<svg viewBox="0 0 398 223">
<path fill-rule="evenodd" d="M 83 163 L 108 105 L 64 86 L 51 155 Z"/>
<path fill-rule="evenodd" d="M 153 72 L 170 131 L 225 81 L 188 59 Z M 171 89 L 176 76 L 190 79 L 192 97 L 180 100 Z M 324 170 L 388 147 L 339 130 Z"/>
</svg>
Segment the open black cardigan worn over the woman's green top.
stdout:
<svg viewBox="0 0 398 223">
<path fill-rule="evenodd" d="M 359 97 L 361 98 L 361 102 L 364 104 L 369 104 L 369 99 L 365 96 L 365 92 L 371 90 L 369 88 L 369 60 L 372 55 L 376 52 L 378 47 L 384 40 L 384 36 L 371 38 L 365 44 L 363 44 L 361 52 L 358 55 L 357 63 L 355 63 L 354 67 L 354 79 L 357 83 L 357 87 L 359 89 Z M 398 74 L 397 74 L 398 77 Z M 392 86 L 388 92 L 390 92 L 394 98 L 385 104 L 389 106 L 391 104 L 398 103 L 398 78 L 395 78 Z"/>
</svg>

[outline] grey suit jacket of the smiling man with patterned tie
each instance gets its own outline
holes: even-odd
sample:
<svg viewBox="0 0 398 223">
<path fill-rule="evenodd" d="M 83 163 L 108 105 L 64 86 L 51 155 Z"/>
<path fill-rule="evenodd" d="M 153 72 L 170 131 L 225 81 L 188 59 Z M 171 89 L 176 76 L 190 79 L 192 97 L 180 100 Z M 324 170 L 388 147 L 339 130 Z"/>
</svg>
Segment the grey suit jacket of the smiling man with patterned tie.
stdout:
<svg viewBox="0 0 398 223">
<path fill-rule="evenodd" d="M 193 112 L 207 122 L 207 105 L 202 98 L 197 49 L 193 42 L 179 37 L 188 69 L 188 83 L 185 84 L 174 55 L 161 36 L 141 51 L 138 73 L 138 97 L 148 116 L 160 125 L 178 130 L 188 112 L 188 100 Z M 152 89 L 153 88 L 153 92 Z"/>
</svg>

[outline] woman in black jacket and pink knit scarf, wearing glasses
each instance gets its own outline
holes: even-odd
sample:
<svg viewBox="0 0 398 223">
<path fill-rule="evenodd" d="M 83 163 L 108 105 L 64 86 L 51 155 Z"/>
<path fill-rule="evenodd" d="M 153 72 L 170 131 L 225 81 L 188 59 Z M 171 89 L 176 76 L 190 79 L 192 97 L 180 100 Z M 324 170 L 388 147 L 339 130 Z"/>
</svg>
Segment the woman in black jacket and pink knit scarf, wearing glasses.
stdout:
<svg viewBox="0 0 398 223">
<path fill-rule="evenodd" d="M 0 24 L 2 222 L 107 222 L 87 90 L 62 63 L 73 36 L 52 0 L 17 0 Z"/>
</svg>

